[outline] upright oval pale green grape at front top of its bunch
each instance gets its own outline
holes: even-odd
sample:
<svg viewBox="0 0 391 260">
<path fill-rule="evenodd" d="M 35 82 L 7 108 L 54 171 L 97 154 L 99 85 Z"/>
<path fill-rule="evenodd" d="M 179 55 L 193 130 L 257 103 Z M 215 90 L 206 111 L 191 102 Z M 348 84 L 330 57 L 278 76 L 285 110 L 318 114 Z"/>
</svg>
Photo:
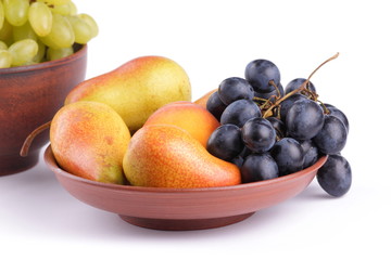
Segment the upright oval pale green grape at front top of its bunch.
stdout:
<svg viewBox="0 0 391 260">
<path fill-rule="evenodd" d="M 50 8 L 42 2 L 31 3 L 28 10 L 28 21 L 34 31 L 40 36 L 47 36 L 52 28 L 52 13 Z"/>
</svg>

